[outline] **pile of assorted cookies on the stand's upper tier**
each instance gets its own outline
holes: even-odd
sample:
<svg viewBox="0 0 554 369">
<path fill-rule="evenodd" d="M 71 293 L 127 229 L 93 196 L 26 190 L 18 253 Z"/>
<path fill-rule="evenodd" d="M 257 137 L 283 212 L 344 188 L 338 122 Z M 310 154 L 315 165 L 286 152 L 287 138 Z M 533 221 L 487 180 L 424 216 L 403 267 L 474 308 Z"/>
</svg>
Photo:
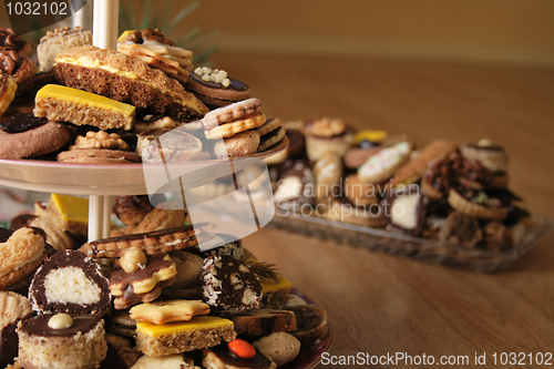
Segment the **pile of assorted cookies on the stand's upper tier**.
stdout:
<svg viewBox="0 0 554 369">
<path fill-rule="evenodd" d="M 250 156 L 284 139 L 246 83 L 193 65 L 158 29 L 117 41 L 100 49 L 91 31 L 55 29 L 35 65 L 29 43 L 0 28 L 0 158 L 186 163 Z"/>
</svg>

